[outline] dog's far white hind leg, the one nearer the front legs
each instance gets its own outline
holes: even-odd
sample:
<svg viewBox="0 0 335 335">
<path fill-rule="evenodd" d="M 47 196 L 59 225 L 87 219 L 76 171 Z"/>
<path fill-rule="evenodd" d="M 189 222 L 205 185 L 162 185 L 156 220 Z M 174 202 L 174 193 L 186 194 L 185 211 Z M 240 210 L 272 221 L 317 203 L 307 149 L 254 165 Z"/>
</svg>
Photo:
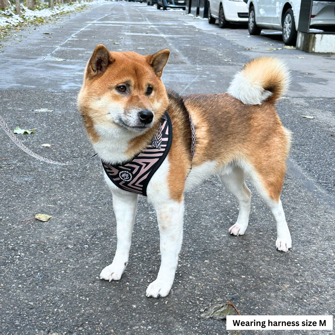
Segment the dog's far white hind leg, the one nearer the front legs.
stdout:
<svg viewBox="0 0 335 335">
<path fill-rule="evenodd" d="M 251 200 L 251 192 L 245 183 L 246 175 L 241 167 L 235 166 L 232 170 L 220 173 L 219 177 L 226 190 L 237 198 L 240 206 L 237 221 L 229 228 L 229 233 L 243 235 L 249 223 Z"/>
</svg>

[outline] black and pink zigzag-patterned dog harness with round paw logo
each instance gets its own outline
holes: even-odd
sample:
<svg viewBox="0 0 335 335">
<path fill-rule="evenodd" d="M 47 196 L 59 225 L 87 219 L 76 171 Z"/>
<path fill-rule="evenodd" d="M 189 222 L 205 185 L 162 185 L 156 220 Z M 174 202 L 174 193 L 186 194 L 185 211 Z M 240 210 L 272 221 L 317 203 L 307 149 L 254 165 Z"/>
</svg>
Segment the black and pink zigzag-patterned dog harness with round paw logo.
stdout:
<svg viewBox="0 0 335 335">
<path fill-rule="evenodd" d="M 191 159 L 195 149 L 195 129 L 190 116 L 192 130 Z M 109 179 L 119 188 L 146 196 L 146 189 L 151 177 L 169 153 L 172 143 L 172 123 L 165 112 L 161 125 L 152 139 L 131 161 L 122 165 L 111 165 L 102 161 Z"/>
</svg>

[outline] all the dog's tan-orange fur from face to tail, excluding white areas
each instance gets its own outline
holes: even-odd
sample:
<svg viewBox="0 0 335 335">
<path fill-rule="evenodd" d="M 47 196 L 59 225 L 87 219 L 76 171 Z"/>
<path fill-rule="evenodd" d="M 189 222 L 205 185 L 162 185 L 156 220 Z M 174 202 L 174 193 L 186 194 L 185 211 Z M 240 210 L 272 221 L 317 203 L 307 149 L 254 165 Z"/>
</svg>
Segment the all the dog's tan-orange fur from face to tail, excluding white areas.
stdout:
<svg viewBox="0 0 335 335">
<path fill-rule="evenodd" d="M 127 156 L 131 158 L 151 141 L 159 119 L 167 109 L 173 125 L 173 142 L 168 156 L 171 199 L 182 201 L 191 166 L 215 161 L 218 166 L 247 162 L 260 178 L 268 196 L 279 201 L 289 151 L 289 133 L 282 126 L 274 107 L 288 83 L 287 73 L 278 59 L 263 57 L 245 65 L 242 76 L 252 78 L 262 89 L 271 92 L 262 105 L 245 105 L 227 93 L 180 98 L 169 92 L 168 98 L 160 80 L 168 57 L 166 50 L 141 56 L 134 52 L 106 54 L 106 48 L 97 48 L 87 63 L 78 96 L 78 108 L 92 143 L 100 140 L 95 125 L 109 125 L 104 115 L 108 104 L 122 106 L 125 113 L 134 107 L 151 108 L 155 123 L 144 134 L 129 141 Z M 99 64 L 103 64 L 100 66 L 102 70 L 94 72 L 94 67 L 99 67 Z M 131 84 L 132 92 L 122 96 L 115 87 L 126 82 Z M 144 94 L 147 83 L 154 87 L 151 96 Z M 196 151 L 192 162 L 188 112 L 196 127 Z"/>
</svg>

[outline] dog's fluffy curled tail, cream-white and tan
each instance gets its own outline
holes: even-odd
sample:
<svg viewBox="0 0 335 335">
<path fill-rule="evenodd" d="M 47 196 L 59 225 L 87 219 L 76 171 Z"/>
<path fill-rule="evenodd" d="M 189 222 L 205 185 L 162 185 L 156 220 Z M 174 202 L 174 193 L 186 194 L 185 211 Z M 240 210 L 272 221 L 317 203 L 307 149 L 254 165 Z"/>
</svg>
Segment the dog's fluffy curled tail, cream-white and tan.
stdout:
<svg viewBox="0 0 335 335">
<path fill-rule="evenodd" d="M 290 79 L 284 61 L 257 57 L 236 73 L 227 92 L 246 105 L 261 105 L 266 100 L 275 103 L 288 89 Z"/>
</svg>

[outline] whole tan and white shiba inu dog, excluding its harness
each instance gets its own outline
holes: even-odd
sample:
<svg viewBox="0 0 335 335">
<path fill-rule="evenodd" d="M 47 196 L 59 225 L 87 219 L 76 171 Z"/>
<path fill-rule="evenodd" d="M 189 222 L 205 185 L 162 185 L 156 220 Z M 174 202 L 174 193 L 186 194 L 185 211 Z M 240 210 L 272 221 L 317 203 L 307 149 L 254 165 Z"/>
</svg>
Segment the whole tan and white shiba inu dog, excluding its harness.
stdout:
<svg viewBox="0 0 335 335">
<path fill-rule="evenodd" d="M 229 228 L 232 235 L 243 235 L 248 226 L 248 176 L 275 218 L 277 249 L 291 248 L 279 199 L 290 133 L 275 109 L 289 85 L 287 67 L 277 58 L 256 58 L 235 75 L 228 93 L 179 96 L 161 81 L 169 55 L 169 50 L 147 56 L 109 52 L 100 44 L 87 63 L 78 95 L 88 138 L 110 164 L 131 160 L 150 143 L 165 111 L 171 118 L 170 151 L 147 186 L 147 200 L 157 213 L 161 254 L 157 279 L 146 290 L 152 297 L 169 294 L 174 281 L 183 236 L 183 194 L 211 175 L 239 202 L 237 221 Z M 193 159 L 189 115 L 196 132 Z M 138 195 L 105 178 L 113 194 L 118 241 L 114 260 L 100 278 L 111 281 L 121 278 L 128 263 Z"/>
</svg>

